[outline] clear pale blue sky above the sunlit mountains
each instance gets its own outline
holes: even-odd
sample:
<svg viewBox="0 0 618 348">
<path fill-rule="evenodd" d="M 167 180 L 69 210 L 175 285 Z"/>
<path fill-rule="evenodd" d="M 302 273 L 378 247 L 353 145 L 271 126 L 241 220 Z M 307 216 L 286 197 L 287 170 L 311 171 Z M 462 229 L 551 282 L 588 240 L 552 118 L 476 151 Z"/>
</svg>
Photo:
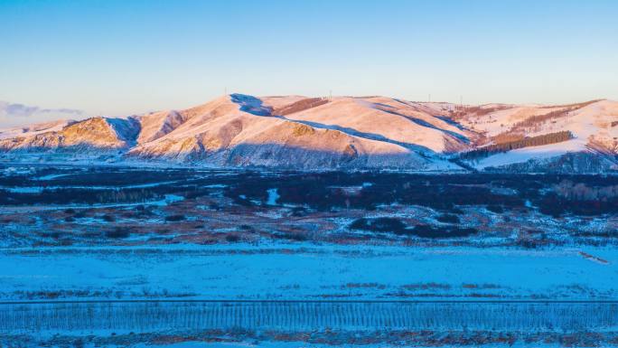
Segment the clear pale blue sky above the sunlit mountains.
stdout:
<svg viewBox="0 0 618 348">
<path fill-rule="evenodd" d="M 0 0 L 0 47 L 0 100 L 88 115 L 187 108 L 226 88 L 618 99 L 615 0 Z"/>
</svg>

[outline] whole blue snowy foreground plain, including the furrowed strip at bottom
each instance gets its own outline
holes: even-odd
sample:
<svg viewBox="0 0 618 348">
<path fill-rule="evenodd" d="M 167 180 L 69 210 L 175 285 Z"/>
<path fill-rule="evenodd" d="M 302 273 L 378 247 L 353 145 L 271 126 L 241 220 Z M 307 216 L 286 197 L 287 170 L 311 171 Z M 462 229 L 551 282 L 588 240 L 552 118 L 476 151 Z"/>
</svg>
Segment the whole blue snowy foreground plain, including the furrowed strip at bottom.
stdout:
<svg viewBox="0 0 618 348">
<path fill-rule="evenodd" d="M 604 302 L 617 262 L 594 247 L 3 249 L 0 343 L 553 347 L 592 332 L 603 343 L 618 326 Z"/>
</svg>

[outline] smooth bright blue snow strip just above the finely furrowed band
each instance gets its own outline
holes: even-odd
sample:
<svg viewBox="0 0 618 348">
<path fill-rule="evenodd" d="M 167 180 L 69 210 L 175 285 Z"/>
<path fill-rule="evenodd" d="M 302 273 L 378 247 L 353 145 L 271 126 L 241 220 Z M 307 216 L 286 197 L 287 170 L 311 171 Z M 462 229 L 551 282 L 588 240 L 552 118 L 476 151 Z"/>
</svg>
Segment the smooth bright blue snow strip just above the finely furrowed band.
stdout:
<svg viewBox="0 0 618 348">
<path fill-rule="evenodd" d="M 24 299 L 608 299 L 618 251 L 478 248 L 37 248 L 0 251 L 0 295 Z"/>
</svg>

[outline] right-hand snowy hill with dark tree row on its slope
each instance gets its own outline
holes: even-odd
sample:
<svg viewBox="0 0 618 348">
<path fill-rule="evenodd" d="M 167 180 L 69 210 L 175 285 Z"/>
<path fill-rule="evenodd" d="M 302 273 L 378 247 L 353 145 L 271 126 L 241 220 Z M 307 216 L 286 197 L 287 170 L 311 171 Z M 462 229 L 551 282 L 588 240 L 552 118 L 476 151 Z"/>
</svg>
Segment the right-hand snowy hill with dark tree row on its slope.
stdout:
<svg viewBox="0 0 618 348">
<path fill-rule="evenodd" d="M 508 151 L 490 151 L 468 158 L 466 162 L 477 169 L 566 173 L 618 169 L 615 101 L 592 100 L 562 106 L 493 104 L 466 108 L 456 113 L 454 119 L 481 135 L 475 144 L 477 153 L 482 153 L 479 149 L 483 148 L 517 144 Z M 564 134 L 568 136 L 561 136 Z M 539 141 L 535 143 L 532 139 Z M 533 144 L 522 146 L 525 143 Z"/>
</svg>

